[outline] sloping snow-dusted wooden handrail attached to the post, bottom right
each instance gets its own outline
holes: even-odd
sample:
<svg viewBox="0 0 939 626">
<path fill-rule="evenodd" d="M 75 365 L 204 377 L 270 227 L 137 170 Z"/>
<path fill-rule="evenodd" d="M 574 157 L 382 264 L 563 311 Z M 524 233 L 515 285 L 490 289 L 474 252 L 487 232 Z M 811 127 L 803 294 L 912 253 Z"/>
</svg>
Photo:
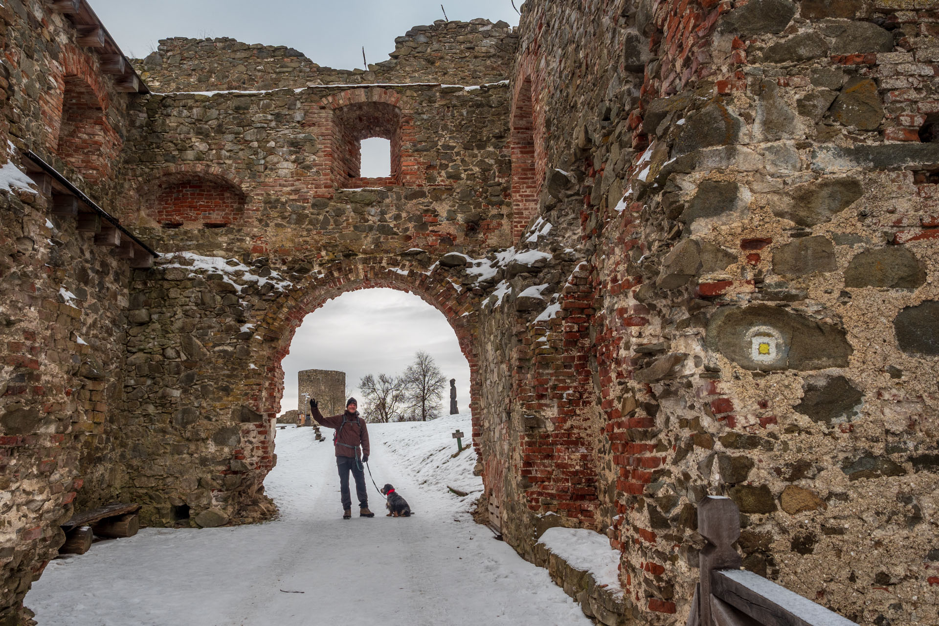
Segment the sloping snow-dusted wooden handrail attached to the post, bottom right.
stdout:
<svg viewBox="0 0 939 626">
<path fill-rule="evenodd" d="M 765 626 L 857 626 L 821 604 L 746 570 L 712 573 L 712 592 Z"/>
</svg>

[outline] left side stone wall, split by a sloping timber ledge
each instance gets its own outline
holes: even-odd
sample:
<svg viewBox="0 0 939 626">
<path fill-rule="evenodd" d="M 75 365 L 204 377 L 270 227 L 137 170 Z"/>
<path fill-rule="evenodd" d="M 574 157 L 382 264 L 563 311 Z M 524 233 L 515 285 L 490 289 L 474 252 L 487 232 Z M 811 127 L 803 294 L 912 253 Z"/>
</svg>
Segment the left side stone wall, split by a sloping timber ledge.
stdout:
<svg viewBox="0 0 939 626">
<path fill-rule="evenodd" d="M 127 96 L 38 0 L 0 6 L 0 622 L 64 541 L 73 508 L 109 501 L 125 477 L 122 387 L 131 270 L 95 234 L 53 213 L 23 175 L 32 150 L 114 210 Z"/>
</svg>

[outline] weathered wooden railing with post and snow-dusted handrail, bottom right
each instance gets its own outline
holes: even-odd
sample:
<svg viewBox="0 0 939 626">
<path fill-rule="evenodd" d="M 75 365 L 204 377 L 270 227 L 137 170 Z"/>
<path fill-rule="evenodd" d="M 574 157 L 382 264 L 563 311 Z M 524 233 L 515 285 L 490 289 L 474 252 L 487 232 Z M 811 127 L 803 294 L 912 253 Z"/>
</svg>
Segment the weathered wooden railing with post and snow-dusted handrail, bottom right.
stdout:
<svg viewBox="0 0 939 626">
<path fill-rule="evenodd" d="M 740 510 L 730 498 L 705 496 L 698 504 L 700 582 L 686 626 L 856 626 L 761 575 L 741 570 L 733 543 Z"/>
</svg>

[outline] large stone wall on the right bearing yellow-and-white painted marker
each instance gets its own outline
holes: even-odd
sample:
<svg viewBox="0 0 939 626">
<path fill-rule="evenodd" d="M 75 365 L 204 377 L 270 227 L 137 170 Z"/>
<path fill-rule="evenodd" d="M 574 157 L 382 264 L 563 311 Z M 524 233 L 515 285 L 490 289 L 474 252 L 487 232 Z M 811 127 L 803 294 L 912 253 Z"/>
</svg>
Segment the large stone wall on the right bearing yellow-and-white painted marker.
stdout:
<svg viewBox="0 0 939 626">
<path fill-rule="evenodd" d="M 535 151 L 578 184 L 594 297 L 603 512 L 563 523 L 623 550 L 627 617 L 684 622 L 715 494 L 748 569 L 859 623 L 936 620 L 936 18 L 525 4 L 513 106 L 531 80 L 563 129 Z"/>
</svg>

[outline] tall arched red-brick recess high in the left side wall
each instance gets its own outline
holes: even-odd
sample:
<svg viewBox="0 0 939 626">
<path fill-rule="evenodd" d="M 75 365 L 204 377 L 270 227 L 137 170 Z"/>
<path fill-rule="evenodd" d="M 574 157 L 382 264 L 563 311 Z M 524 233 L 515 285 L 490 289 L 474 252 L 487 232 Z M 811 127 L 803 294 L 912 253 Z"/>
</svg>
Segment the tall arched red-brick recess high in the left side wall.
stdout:
<svg viewBox="0 0 939 626">
<path fill-rule="evenodd" d="M 86 180 L 97 182 L 110 172 L 116 156 L 115 131 L 100 100 L 85 79 L 66 76 L 56 154 Z"/>
</svg>

